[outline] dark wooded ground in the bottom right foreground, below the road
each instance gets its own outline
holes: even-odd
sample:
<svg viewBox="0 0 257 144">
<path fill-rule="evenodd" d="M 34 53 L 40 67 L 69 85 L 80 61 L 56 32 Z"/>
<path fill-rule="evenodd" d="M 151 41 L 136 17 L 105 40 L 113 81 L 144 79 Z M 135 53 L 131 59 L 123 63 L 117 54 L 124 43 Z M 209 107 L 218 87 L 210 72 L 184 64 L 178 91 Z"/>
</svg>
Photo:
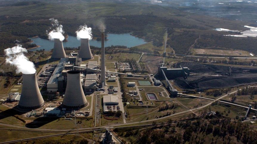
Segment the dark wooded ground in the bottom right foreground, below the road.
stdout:
<svg viewBox="0 0 257 144">
<path fill-rule="evenodd" d="M 217 112 L 217 115 L 221 115 Z M 210 117 L 213 117 L 212 115 Z M 116 128 L 114 132 L 123 137 L 123 142 L 145 144 L 256 144 L 257 131 L 253 125 L 239 120 L 213 118 L 210 120 L 179 122 L 177 124 L 153 123 L 152 128 Z M 170 121 L 170 120 L 169 120 Z M 172 121 L 170 121 L 172 122 Z"/>
</svg>

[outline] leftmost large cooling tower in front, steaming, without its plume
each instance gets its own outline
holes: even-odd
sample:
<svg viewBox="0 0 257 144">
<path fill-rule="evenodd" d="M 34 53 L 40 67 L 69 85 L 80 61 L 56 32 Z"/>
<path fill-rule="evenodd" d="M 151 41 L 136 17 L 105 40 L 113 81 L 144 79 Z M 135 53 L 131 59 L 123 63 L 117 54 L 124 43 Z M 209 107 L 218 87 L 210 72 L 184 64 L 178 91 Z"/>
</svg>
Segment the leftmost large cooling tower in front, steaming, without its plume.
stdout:
<svg viewBox="0 0 257 144">
<path fill-rule="evenodd" d="M 23 86 L 18 107 L 34 110 L 44 105 L 44 99 L 39 91 L 36 73 L 22 74 Z"/>
</svg>

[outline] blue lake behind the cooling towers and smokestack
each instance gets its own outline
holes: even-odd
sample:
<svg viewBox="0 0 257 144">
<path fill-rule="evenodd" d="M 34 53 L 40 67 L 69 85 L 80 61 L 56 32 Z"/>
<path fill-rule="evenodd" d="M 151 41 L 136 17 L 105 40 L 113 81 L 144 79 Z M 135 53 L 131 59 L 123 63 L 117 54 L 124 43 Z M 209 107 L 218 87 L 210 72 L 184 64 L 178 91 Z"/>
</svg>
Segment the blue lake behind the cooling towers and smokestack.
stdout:
<svg viewBox="0 0 257 144">
<path fill-rule="evenodd" d="M 108 34 L 107 36 L 108 40 L 105 41 L 105 47 L 112 45 L 124 45 L 128 48 L 131 48 L 137 45 L 147 43 L 144 41 L 144 39 L 134 37 L 130 34 Z M 54 41 L 41 39 L 39 37 L 30 39 L 34 41 L 32 43 L 40 46 L 39 48 L 30 49 L 31 51 L 36 51 L 40 49 L 51 50 L 52 48 L 54 48 Z M 78 48 L 80 46 L 80 40 L 78 40 L 77 37 L 69 36 L 67 40 L 68 42 L 63 42 L 64 48 Z M 89 40 L 89 45 L 101 48 L 101 41 Z"/>
</svg>

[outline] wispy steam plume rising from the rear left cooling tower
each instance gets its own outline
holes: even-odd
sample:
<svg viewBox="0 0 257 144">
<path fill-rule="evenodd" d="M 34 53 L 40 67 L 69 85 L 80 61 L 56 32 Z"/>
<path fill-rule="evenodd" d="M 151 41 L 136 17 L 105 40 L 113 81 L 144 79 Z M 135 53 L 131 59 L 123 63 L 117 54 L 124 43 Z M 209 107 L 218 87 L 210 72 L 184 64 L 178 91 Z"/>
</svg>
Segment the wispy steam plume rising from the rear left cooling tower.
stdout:
<svg viewBox="0 0 257 144">
<path fill-rule="evenodd" d="M 54 39 L 59 39 L 60 41 L 64 40 L 64 31 L 63 31 L 63 26 L 59 24 L 58 20 L 55 20 L 54 18 L 49 19 L 52 22 L 53 30 L 48 32 L 48 39 L 49 40 L 54 40 Z"/>
</svg>

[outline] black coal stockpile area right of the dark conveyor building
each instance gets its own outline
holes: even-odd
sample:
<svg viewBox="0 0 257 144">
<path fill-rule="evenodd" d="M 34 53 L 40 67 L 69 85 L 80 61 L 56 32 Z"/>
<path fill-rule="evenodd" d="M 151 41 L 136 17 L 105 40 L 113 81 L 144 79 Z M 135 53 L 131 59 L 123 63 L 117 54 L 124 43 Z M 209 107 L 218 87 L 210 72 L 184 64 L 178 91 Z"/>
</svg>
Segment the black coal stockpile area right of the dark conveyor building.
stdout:
<svg viewBox="0 0 257 144">
<path fill-rule="evenodd" d="M 182 62 L 176 64 L 175 68 L 179 65 L 191 69 L 191 74 L 186 79 L 178 77 L 173 80 L 175 85 L 181 89 L 236 87 L 257 82 L 256 67 Z"/>
</svg>

